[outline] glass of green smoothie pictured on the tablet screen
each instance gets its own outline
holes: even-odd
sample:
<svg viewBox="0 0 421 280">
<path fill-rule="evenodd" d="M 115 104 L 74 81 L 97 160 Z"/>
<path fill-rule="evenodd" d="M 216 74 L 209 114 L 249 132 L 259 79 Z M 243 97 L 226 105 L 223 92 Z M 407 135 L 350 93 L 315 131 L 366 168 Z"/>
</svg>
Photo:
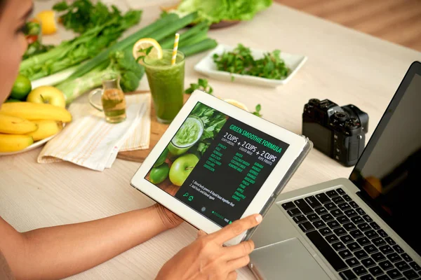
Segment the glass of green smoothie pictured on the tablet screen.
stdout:
<svg viewBox="0 0 421 280">
<path fill-rule="evenodd" d="M 203 134 L 203 122 L 196 116 L 189 116 L 175 134 L 168 150 L 173 155 L 182 155 L 187 152 Z"/>
</svg>

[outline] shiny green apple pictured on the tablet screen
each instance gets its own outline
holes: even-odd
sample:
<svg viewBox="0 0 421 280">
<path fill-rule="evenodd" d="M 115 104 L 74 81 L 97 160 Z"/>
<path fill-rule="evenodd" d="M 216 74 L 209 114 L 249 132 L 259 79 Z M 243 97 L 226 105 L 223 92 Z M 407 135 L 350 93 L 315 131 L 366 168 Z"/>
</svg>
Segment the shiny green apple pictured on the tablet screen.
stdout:
<svg viewBox="0 0 421 280">
<path fill-rule="evenodd" d="M 181 186 L 199 162 L 199 158 L 192 153 L 180 156 L 173 162 L 170 169 L 170 181 L 175 186 Z"/>
</svg>

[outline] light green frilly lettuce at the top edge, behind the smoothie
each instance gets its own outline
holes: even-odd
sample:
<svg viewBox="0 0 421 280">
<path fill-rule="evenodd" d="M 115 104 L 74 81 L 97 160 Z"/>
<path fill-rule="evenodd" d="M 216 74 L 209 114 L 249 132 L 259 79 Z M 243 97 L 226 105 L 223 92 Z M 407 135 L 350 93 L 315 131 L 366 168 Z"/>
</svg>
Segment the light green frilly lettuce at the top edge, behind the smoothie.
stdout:
<svg viewBox="0 0 421 280">
<path fill-rule="evenodd" d="M 272 0 L 182 0 L 169 13 L 185 15 L 197 11 L 196 22 L 218 23 L 222 20 L 251 20 L 256 13 L 272 5 Z"/>
</svg>

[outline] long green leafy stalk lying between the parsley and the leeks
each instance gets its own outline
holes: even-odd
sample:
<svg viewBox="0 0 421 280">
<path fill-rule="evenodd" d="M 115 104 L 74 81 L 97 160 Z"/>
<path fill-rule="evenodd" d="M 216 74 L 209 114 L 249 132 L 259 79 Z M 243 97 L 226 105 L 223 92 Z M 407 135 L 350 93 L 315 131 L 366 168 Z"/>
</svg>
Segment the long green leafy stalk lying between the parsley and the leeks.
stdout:
<svg viewBox="0 0 421 280">
<path fill-rule="evenodd" d="M 140 12 L 131 11 L 121 19 L 113 18 L 104 25 L 88 29 L 72 40 L 62 41 L 48 52 L 23 60 L 20 64 L 20 73 L 29 80 L 36 80 L 80 64 L 98 55 L 101 50 L 114 43 L 123 31 L 137 24 L 139 20 Z"/>
</svg>

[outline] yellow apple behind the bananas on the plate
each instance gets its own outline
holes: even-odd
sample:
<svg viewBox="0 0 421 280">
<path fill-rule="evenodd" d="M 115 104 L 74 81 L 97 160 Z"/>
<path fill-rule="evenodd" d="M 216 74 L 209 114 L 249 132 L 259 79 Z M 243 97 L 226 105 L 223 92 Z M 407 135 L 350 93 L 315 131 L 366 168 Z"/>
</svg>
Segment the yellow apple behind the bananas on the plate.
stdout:
<svg viewBox="0 0 421 280">
<path fill-rule="evenodd" d="M 51 85 L 42 85 L 29 92 L 27 102 L 46 103 L 54 106 L 66 107 L 65 94 Z"/>
</svg>

